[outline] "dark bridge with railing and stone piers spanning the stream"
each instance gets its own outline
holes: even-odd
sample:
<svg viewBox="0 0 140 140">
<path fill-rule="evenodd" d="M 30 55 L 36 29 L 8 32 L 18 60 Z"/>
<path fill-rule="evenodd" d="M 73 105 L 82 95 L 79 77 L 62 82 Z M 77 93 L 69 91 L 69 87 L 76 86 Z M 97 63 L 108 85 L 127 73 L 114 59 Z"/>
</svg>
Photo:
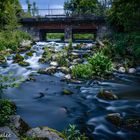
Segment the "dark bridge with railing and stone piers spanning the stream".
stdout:
<svg viewBox="0 0 140 140">
<path fill-rule="evenodd" d="M 54 12 L 55 11 L 55 12 Z M 42 15 L 21 18 L 22 29 L 34 38 L 46 41 L 47 33 L 64 33 L 65 41 L 74 39 L 74 34 L 99 36 L 105 26 L 105 18 L 95 15 L 71 15 L 60 9 L 40 10 Z"/>
</svg>

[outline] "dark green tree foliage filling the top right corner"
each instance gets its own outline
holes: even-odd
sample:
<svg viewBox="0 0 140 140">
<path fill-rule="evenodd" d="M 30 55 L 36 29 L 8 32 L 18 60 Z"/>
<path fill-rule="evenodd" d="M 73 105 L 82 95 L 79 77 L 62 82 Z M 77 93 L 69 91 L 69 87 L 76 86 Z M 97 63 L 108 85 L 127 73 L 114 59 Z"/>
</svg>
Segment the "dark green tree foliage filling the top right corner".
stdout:
<svg viewBox="0 0 140 140">
<path fill-rule="evenodd" d="M 108 11 L 108 21 L 118 31 L 140 31 L 140 1 L 114 0 Z"/>
</svg>

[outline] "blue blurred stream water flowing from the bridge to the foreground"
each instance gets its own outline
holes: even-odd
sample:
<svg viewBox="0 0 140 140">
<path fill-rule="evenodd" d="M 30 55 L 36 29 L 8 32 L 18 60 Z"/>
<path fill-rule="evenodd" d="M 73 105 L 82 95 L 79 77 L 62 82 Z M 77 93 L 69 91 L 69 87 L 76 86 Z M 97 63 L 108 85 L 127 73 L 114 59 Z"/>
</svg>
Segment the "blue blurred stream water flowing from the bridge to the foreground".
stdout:
<svg viewBox="0 0 140 140">
<path fill-rule="evenodd" d="M 37 42 L 32 49 L 36 51 L 27 57 L 28 67 L 13 63 L 12 56 L 8 64 L 0 66 L 2 74 L 13 72 L 15 76 L 28 78 L 34 75 L 36 81 L 25 81 L 18 88 L 5 91 L 5 97 L 17 105 L 17 114 L 31 126 L 48 126 L 59 131 L 69 124 L 77 124 L 94 140 L 138 140 L 140 134 L 115 127 L 105 119 L 109 113 L 121 113 L 123 116 L 140 116 L 140 74 L 115 73 L 115 80 L 96 83 L 67 84 L 61 81 L 61 73 L 53 76 L 37 74 L 38 69 L 48 67 L 39 64 L 45 45 L 52 45 L 56 50 L 64 43 Z M 22 54 L 25 55 L 24 53 Z M 119 100 L 106 101 L 99 99 L 97 93 L 101 88 L 112 90 Z M 63 89 L 70 89 L 75 94 L 62 95 Z M 41 96 L 43 95 L 43 96 Z"/>
</svg>

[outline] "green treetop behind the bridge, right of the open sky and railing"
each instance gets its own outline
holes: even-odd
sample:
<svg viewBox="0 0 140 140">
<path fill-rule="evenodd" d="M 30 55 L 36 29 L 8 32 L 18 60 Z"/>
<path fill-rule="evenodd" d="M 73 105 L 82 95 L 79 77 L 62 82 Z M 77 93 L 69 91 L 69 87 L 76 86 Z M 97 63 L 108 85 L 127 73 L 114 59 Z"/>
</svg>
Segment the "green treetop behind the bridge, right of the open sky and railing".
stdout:
<svg viewBox="0 0 140 140">
<path fill-rule="evenodd" d="M 97 8 L 97 0 L 69 0 L 64 3 L 64 9 L 71 14 L 94 14 Z"/>
</svg>

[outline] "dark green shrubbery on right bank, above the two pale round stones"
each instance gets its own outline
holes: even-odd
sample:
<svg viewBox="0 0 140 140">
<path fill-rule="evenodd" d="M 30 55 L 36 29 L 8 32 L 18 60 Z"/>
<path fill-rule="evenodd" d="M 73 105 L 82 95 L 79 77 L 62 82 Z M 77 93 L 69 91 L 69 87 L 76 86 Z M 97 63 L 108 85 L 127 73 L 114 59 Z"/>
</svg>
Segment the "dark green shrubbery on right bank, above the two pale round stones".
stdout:
<svg viewBox="0 0 140 140">
<path fill-rule="evenodd" d="M 121 58 L 125 61 L 132 61 L 134 66 L 140 64 L 140 33 L 117 33 L 113 34 L 110 40 L 104 40 L 105 47 L 102 49 L 105 55 L 108 55 L 113 60 Z"/>
</svg>

